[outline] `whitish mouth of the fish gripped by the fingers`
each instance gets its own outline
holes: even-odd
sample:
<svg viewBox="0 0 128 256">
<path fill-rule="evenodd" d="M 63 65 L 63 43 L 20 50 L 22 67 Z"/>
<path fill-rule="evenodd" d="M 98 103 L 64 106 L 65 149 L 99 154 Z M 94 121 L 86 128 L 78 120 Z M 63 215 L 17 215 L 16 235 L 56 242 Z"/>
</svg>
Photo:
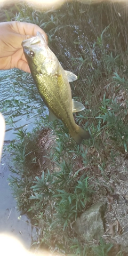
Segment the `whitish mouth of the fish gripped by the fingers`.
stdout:
<svg viewBox="0 0 128 256">
<path fill-rule="evenodd" d="M 42 45 L 47 45 L 46 39 L 43 36 L 43 34 L 41 34 L 40 32 L 37 32 L 36 36 L 30 37 L 22 41 L 21 45 L 22 47 L 25 47 L 25 46 L 31 46 L 39 43 L 41 43 Z"/>
</svg>

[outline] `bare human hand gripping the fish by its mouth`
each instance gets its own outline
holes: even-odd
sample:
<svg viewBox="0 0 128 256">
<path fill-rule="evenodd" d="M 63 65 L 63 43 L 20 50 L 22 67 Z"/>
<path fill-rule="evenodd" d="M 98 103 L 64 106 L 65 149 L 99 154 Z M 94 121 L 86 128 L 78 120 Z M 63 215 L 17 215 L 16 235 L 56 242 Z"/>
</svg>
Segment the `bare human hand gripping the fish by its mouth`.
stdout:
<svg viewBox="0 0 128 256">
<path fill-rule="evenodd" d="M 30 69 L 23 53 L 23 40 L 42 33 L 47 41 L 47 35 L 37 25 L 27 22 L 0 22 L 0 69 L 19 68 L 29 72 Z"/>
</svg>

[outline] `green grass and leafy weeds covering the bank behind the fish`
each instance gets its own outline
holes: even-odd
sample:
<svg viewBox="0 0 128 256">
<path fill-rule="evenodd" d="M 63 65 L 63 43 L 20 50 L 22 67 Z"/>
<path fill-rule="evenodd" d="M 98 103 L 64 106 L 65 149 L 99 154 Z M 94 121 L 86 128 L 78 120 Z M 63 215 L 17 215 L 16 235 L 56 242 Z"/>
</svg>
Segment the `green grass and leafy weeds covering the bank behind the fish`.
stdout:
<svg viewBox="0 0 128 256">
<path fill-rule="evenodd" d="M 11 11 L 7 20 L 16 19 L 42 27 L 63 68 L 78 76 L 71 90 L 74 99 L 85 105 L 85 110 L 74 117 L 77 124 L 91 133 L 91 139 L 83 141 L 79 147 L 69 138 L 62 123 L 47 124 L 47 118 L 42 118 L 41 111 L 37 111 L 33 133 L 18 131 L 20 141 L 10 145 L 16 164 L 11 186 L 18 207 L 41 228 L 39 245 L 66 254 L 111 255 L 114 245 L 106 244 L 103 239 L 97 241 L 97 246 L 82 243 L 73 233 L 72 225 L 92 204 L 94 193 L 105 183 L 107 186 L 107 166 L 116 166 L 116 156 L 127 154 L 128 23 L 125 4 L 74 2 L 45 13 L 27 5 L 16 6 L 16 10 L 15 15 Z M 26 90 L 30 93 L 29 98 L 35 97 L 40 104 L 33 87 L 32 90 L 26 87 Z M 15 103 L 19 104 L 13 101 Z M 43 148 L 47 127 L 53 131 L 50 132 L 53 139 L 49 142 L 52 146 L 49 154 Z M 49 168 L 43 161 L 50 163 Z"/>
</svg>

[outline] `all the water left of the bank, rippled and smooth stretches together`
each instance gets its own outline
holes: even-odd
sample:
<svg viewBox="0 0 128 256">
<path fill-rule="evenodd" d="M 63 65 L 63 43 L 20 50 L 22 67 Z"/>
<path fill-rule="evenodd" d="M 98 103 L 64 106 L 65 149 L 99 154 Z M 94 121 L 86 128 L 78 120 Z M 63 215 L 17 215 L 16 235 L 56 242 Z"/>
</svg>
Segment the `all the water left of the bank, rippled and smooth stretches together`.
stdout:
<svg viewBox="0 0 128 256">
<path fill-rule="evenodd" d="M 38 93 L 35 93 L 36 97 L 29 98 L 27 89 L 37 91 L 34 84 L 31 84 L 31 78 L 27 78 L 28 83 L 25 78 L 22 71 L 0 71 L 0 111 L 6 120 L 5 142 L 8 143 L 17 138 L 15 132 L 21 127 L 29 132 L 33 129 L 35 118 L 38 118 L 38 109 L 41 107 L 43 113 L 43 102 L 40 98 L 36 99 Z M 11 175 L 10 166 L 13 166 L 11 155 L 4 151 L 0 163 L 0 232 L 15 235 L 26 247 L 30 247 L 32 237 L 33 240 L 36 239 L 36 229 L 31 227 L 27 215 L 20 216 L 17 211 L 17 203 L 7 181 Z"/>
</svg>

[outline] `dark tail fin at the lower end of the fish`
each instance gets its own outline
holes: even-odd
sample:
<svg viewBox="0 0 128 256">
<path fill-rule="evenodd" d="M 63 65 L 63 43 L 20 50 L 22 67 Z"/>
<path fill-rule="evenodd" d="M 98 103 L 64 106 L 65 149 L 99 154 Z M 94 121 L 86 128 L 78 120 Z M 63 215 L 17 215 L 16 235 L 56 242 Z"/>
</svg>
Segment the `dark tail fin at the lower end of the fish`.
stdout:
<svg viewBox="0 0 128 256">
<path fill-rule="evenodd" d="M 78 145 L 81 144 L 82 140 L 87 140 L 90 139 L 90 134 L 89 132 L 85 131 L 82 129 L 80 126 L 77 125 L 77 130 L 73 133 L 70 133 L 71 137 L 76 141 Z"/>
</svg>

